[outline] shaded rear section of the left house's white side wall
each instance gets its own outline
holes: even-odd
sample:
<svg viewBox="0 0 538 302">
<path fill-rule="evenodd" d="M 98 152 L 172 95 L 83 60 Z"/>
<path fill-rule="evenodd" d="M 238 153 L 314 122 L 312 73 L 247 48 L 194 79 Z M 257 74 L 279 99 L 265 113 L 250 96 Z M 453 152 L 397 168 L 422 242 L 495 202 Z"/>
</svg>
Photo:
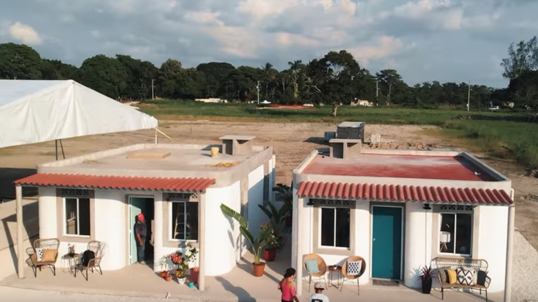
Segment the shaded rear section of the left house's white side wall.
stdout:
<svg viewBox="0 0 538 302">
<path fill-rule="evenodd" d="M 261 223 L 269 221 L 258 205 L 263 205 L 263 165 L 248 174 L 248 230 L 253 236 L 258 235 Z"/>
</svg>

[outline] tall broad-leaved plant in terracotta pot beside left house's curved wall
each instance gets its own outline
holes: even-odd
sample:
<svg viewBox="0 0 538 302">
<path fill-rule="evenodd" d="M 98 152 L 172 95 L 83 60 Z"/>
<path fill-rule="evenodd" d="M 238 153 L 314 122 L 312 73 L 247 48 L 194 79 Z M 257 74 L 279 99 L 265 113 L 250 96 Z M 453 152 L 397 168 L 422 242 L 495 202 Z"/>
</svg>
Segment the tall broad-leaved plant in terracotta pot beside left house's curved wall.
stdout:
<svg viewBox="0 0 538 302">
<path fill-rule="evenodd" d="M 239 223 L 239 231 L 250 243 L 250 250 L 254 255 L 254 262 L 252 263 L 253 274 L 255 276 L 263 276 L 263 270 L 266 267 L 266 263 L 260 261 L 260 256 L 261 251 L 270 240 L 271 233 L 273 232 L 272 227 L 268 226 L 267 228 L 260 228 L 258 236 L 254 239 L 254 236 L 252 236 L 248 230 L 248 221 L 245 217 L 242 217 L 237 211 L 223 203 L 221 203 L 221 211 Z"/>
</svg>

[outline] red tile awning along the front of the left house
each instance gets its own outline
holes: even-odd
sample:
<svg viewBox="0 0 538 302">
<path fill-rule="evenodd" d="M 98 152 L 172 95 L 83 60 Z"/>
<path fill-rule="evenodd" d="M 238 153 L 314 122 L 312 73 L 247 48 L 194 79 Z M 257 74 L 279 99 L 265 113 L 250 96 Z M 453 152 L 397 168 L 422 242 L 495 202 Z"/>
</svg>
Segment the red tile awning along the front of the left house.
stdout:
<svg viewBox="0 0 538 302">
<path fill-rule="evenodd" d="M 35 187 L 203 192 L 215 183 L 215 179 L 37 173 L 14 181 L 14 183 Z"/>
</svg>

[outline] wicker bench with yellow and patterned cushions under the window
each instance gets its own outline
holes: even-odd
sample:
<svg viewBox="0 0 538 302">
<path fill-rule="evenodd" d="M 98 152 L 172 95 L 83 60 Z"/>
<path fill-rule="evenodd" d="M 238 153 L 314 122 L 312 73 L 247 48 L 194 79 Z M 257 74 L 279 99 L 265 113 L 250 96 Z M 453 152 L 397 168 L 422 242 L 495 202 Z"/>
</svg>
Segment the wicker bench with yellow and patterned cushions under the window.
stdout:
<svg viewBox="0 0 538 302">
<path fill-rule="evenodd" d="M 444 299 L 445 288 L 469 288 L 471 290 L 482 290 L 486 292 L 486 302 L 488 301 L 488 287 L 491 283 L 488 277 L 488 261 L 484 259 L 468 259 L 461 257 L 437 257 L 432 260 L 432 267 L 437 269 L 437 278 L 441 285 L 441 300 Z M 456 283 L 449 283 L 447 270 L 468 269 L 475 270 L 476 274 L 472 277 L 472 285 L 461 284 L 457 277 Z"/>
</svg>

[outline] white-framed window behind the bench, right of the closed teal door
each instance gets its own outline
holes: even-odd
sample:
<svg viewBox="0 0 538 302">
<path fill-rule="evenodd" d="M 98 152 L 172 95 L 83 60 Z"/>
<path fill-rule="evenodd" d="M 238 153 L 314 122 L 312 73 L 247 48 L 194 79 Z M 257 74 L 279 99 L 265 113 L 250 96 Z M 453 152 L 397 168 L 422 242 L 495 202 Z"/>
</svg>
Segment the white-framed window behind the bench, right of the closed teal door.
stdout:
<svg viewBox="0 0 538 302">
<path fill-rule="evenodd" d="M 472 253 L 472 206 L 441 205 L 439 209 L 439 252 Z"/>
</svg>

